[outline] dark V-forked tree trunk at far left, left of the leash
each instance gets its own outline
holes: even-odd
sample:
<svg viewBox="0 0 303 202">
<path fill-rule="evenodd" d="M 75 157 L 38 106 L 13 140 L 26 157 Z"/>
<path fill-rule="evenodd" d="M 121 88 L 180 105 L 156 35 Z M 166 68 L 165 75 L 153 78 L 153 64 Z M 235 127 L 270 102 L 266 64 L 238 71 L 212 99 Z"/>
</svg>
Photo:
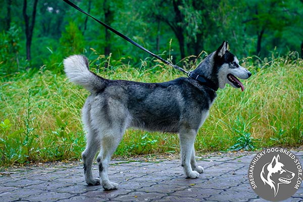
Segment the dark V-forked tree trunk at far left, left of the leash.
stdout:
<svg viewBox="0 0 303 202">
<path fill-rule="evenodd" d="M 31 46 L 31 41 L 32 41 L 32 37 L 33 37 L 33 30 L 34 30 L 34 26 L 35 26 L 37 3 L 38 3 L 38 0 L 34 0 L 31 22 L 29 22 L 30 17 L 26 14 L 27 0 L 24 0 L 24 2 L 23 2 L 23 17 L 24 17 L 24 22 L 25 22 L 26 59 L 27 60 L 31 59 L 31 57 L 30 57 L 30 46 Z"/>
</svg>

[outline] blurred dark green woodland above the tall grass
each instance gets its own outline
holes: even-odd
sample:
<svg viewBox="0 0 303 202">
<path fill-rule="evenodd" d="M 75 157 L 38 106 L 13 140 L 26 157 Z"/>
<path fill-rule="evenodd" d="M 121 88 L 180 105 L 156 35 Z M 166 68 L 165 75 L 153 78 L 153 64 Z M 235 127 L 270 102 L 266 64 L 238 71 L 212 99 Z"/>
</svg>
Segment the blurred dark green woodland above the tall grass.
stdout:
<svg viewBox="0 0 303 202">
<path fill-rule="evenodd" d="M 210 53 L 223 40 L 238 58 L 290 51 L 303 57 L 303 0 L 73 2 L 175 63 Z M 11 72 L 42 65 L 56 69 L 63 58 L 90 48 L 133 65 L 149 57 L 63 1 L 1 0 L 0 14 L 0 65 Z"/>
</svg>

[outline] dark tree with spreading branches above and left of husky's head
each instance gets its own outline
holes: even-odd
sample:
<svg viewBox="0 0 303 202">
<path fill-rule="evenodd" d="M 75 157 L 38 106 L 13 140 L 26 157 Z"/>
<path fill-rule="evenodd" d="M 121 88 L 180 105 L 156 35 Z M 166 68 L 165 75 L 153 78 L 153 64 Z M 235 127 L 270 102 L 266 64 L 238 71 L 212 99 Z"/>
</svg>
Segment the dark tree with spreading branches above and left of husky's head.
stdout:
<svg viewBox="0 0 303 202">
<path fill-rule="evenodd" d="M 206 37 L 216 26 L 210 13 L 218 8 L 218 2 L 171 0 L 154 4 L 153 15 L 169 25 L 178 39 L 181 58 L 186 54 L 198 56 Z"/>
</svg>

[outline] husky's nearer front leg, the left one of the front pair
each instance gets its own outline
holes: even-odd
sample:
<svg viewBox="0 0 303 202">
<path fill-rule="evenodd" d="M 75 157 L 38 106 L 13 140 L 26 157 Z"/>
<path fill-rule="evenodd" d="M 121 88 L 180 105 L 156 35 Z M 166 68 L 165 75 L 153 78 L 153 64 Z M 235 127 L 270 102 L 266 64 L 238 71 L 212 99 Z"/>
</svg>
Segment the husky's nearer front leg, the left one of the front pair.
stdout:
<svg viewBox="0 0 303 202">
<path fill-rule="evenodd" d="M 197 178 L 199 173 L 193 171 L 191 168 L 191 157 L 193 151 L 193 144 L 196 136 L 196 131 L 192 129 L 184 129 L 179 133 L 180 147 L 181 147 L 181 165 L 185 172 L 186 178 Z"/>
</svg>

